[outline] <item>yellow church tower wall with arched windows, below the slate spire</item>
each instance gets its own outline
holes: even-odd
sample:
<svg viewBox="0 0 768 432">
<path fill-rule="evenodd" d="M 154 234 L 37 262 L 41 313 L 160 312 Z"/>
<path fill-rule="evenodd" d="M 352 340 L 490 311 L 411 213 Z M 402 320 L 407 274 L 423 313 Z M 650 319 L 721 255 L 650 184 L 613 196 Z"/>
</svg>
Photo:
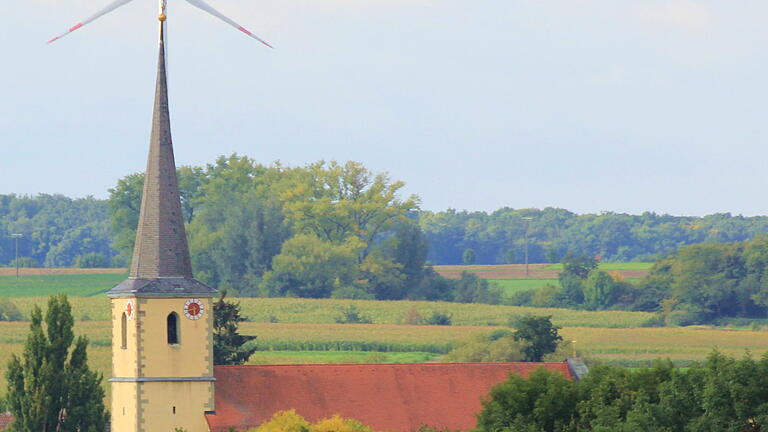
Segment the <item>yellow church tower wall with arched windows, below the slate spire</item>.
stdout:
<svg viewBox="0 0 768 432">
<path fill-rule="evenodd" d="M 197 298 L 203 316 L 184 315 L 184 298 L 112 299 L 112 430 L 207 432 L 204 413 L 214 410 L 213 305 Z M 123 346 L 122 314 L 126 320 Z M 169 345 L 167 317 L 178 316 L 178 344 Z M 175 411 L 175 413 L 174 413 Z"/>
</svg>

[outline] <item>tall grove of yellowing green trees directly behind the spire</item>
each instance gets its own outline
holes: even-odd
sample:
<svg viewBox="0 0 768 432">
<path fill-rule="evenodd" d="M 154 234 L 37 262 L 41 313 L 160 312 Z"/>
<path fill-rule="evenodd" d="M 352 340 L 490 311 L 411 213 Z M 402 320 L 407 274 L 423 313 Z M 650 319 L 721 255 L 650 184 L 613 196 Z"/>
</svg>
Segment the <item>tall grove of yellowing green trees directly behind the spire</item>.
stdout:
<svg viewBox="0 0 768 432">
<path fill-rule="evenodd" d="M 220 157 L 178 170 L 195 276 L 240 296 L 496 302 L 486 281 L 427 265 L 419 199 L 357 162 L 265 166 Z M 110 189 L 113 246 L 130 259 L 143 175 Z"/>
</svg>

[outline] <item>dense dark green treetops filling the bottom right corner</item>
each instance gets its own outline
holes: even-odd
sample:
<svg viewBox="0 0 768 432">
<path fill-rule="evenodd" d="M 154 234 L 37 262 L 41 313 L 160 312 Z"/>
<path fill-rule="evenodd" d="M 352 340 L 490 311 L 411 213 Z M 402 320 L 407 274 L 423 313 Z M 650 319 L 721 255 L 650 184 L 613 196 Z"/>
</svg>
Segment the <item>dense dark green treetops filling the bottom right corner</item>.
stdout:
<svg viewBox="0 0 768 432">
<path fill-rule="evenodd" d="M 741 432 L 768 430 L 768 357 L 713 352 L 632 371 L 593 366 L 581 381 L 538 369 L 496 386 L 474 432 Z"/>
</svg>

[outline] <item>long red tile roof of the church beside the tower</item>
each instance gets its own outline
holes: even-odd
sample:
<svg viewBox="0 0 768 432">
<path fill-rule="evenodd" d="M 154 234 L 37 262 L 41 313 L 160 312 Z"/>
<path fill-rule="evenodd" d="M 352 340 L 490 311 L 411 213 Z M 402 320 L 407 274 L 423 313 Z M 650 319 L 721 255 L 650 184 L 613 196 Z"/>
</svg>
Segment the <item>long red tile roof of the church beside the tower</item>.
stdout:
<svg viewBox="0 0 768 432">
<path fill-rule="evenodd" d="M 246 430 L 295 409 L 311 422 L 340 414 L 375 430 L 466 430 L 491 387 L 540 367 L 571 378 L 567 363 L 216 366 L 216 414 L 206 419 L 212 432 Z"/>
</svg>

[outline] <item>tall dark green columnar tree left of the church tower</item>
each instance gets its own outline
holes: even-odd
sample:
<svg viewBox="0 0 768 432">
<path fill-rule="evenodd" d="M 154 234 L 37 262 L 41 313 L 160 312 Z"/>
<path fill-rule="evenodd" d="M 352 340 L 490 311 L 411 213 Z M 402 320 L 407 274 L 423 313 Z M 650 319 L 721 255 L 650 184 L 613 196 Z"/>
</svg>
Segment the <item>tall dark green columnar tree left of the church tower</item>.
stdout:
<svg viewBox="0 0 768 432">
<path fill-rule="evenodd" d="M 88 339 L 76 340 L 66 296 L 51 297 L 48 310 L 32 310 L 24 352 L 8 362 L 8 408 L 13 432 L 103 431 L 109 419 L 104 408 L 101 374 L 88 367 Z M 70 350 L 72 341 L 75 346 Z"/>
</svg>

